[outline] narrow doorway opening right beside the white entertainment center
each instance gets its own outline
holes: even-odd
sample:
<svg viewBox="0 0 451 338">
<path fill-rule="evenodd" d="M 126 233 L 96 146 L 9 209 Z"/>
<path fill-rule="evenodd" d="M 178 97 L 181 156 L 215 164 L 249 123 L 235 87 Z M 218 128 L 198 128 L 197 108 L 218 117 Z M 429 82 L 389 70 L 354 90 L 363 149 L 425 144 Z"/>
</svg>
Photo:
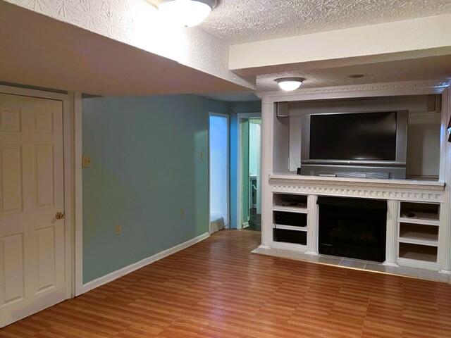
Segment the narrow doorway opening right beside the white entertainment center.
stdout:
<svg viewBox="0 0 451 338">
<path fill-rule="evenodd" d="M 239 114 L 241 115 L 241 114 Z M 240 120 L 240 225 L 261 231 L 261 117 L 239 116 Z"/>
</svg>

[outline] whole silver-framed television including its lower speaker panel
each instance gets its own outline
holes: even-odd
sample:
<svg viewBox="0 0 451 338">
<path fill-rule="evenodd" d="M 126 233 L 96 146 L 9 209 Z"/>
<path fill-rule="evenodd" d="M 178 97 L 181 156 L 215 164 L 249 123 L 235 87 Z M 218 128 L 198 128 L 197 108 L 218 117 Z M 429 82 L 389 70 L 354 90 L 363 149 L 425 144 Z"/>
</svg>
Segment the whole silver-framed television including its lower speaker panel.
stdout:
<svg viewBox="0 0 451 338">
<path fill-rule="evenodd" d="M 302 117 L 302 175 L 405 178 L 407 111 Z"/>
</svg>

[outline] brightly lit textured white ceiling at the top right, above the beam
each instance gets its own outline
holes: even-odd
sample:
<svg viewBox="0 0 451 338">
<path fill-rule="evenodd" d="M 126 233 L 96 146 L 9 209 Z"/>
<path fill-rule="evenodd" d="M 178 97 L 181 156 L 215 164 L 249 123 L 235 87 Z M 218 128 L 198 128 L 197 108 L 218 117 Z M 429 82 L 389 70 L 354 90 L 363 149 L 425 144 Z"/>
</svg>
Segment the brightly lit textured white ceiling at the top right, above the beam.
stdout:
<svg viewBox="0 0 451 338">
<path fill-rule="evenodd" d="M 230 43 L 451 13 L 451 0 L 221 0 L 202 28 Z"/>
</svg>

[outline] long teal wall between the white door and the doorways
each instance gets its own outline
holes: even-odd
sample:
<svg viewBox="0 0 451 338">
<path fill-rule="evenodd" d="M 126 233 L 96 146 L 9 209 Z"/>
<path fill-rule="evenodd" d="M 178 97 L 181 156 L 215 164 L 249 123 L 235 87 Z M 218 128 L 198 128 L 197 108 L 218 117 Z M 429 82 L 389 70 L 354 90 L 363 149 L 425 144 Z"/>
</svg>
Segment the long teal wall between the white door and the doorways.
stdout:
<svg viewBox="0 0 451 338">
<path fill-rule="evenodd" d="M 83 99 L 92 160 L 83 169 L 84 282 L 208 231 L 211 106 L 223 105 L 194 95 Z"/>
</svg>

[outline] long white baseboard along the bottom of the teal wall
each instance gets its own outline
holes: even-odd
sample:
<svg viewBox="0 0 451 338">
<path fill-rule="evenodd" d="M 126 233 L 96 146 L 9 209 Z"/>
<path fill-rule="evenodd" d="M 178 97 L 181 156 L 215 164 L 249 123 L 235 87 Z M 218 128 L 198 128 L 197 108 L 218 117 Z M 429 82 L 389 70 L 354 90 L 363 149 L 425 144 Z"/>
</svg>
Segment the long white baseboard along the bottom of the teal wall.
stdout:
<svg viewBox="0 0 451 338">
<path fill-rule="evenodd" d="M 128 266 L 125 266 L 124 268 L 113 271 L 112 273 L 109 273 L 108 275 L 104 275 L 95 280 L 92 280 L 91 282 L 87 282 L 86 284 L 83 284 L 82 292 L 77 294 L 77 296 L 80 296 L 80 294 L 84 294 L 85 292 L 91 291 L 92 289 L 95 289 L 96 287 L 100 287 L 103 284 L 112 282 L 113 280 L 117 280 L 119 277 L 128 275 L 129 273 L 132 273 L 133 271 L 138 270 L 146 265 L 149 265 L 156 261 L 159 261 L 161 258 L 171 256 L 173 253 L 176 253 L 178 251 L 186 249 L 189 246 L 197 244 L 197 243 L 203 241 L 204 239 L 208 238 L 209 236 L 210 236 L 209 233 L 205 232 L 204 234 L 194 237 L 193 239 L 190 239 L 187 242 L 183 242 L 181 244 L 173 246 L 172 248 L 169 248 L 169 249 L 163 250 L 159 253 L 156 253 L 156 254 L 154 254 L 154 256 L 144 258 L 139 262 L 132 263 Z"/>
</svg>

